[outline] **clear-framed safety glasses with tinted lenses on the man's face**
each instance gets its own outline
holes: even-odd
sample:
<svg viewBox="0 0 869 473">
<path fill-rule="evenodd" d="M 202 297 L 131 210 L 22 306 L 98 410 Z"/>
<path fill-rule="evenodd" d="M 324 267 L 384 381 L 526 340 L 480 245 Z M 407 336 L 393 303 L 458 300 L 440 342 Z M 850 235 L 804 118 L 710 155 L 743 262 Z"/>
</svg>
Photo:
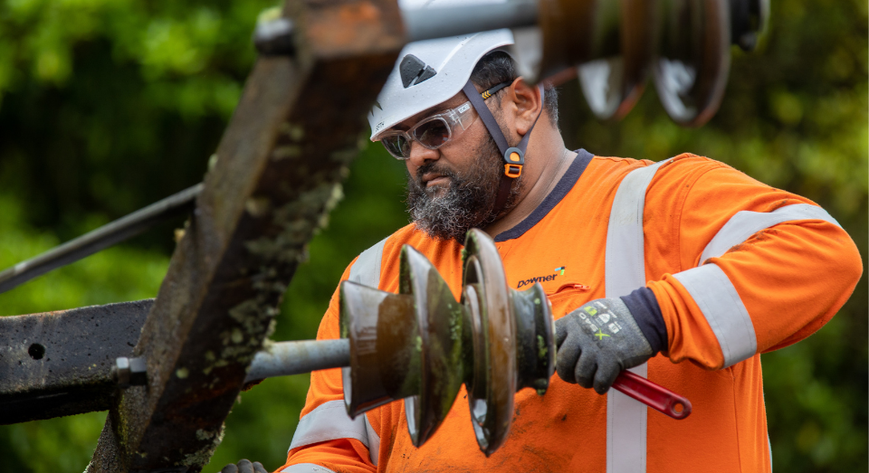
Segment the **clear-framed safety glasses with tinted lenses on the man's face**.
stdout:
<svg viewBox="0 0 869 473">
<path fill-rule="evenodd" d="M 476 118 L 471 102 L 467 101 L 455 109 L 423 118 L 407 131 L 387 131 L 380 136 L 380 142 L 390 155 L 405 160 L 410 157 L 410 146 L 414 141 L 428 149 L 443 147 L 451 139 L 462 135 Z"/>
</svg>

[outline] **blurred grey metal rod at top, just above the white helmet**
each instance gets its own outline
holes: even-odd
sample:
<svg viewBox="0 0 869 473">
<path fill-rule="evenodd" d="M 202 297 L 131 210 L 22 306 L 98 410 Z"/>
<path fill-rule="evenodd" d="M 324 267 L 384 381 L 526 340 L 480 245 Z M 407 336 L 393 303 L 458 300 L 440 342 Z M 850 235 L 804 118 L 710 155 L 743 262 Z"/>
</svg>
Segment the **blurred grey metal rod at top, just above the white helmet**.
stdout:
<svg viewBox="0 0 869 473">
<path fill-rule="evenodd" d="M 408 41 L 429 40 L 501 28 L 537 24 L 537 1 L 508 0 L 498 4 L 406 8 L 401 16 Z"/>
</svg>

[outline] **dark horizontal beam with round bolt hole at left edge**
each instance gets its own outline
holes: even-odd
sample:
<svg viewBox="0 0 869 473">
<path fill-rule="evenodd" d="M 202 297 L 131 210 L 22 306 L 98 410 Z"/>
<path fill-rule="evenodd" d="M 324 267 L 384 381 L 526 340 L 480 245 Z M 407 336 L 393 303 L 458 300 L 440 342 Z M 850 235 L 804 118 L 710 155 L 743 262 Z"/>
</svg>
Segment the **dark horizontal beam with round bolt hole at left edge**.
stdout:
<svg viewBox="0 0 869 473">
<path fill-rule="evenodd" d="M 0 424 L 106 411 L 154 299 L 0 317 Z"/>
</svg>

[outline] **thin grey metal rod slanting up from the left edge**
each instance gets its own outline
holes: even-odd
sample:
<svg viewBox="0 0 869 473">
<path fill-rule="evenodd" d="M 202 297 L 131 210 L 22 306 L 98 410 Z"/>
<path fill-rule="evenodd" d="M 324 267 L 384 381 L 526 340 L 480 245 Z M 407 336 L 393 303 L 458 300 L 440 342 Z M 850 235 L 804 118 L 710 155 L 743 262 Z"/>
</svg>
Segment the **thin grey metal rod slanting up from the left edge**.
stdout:
<svg viewBox="0 0 869 473">
<path fill-rule="evenodd" d="M 0 293 L 134 237 L 179 213 L 188 212 L 200 192 L 202 184 L 196 184 L 0 272 Z"/>
</svg>

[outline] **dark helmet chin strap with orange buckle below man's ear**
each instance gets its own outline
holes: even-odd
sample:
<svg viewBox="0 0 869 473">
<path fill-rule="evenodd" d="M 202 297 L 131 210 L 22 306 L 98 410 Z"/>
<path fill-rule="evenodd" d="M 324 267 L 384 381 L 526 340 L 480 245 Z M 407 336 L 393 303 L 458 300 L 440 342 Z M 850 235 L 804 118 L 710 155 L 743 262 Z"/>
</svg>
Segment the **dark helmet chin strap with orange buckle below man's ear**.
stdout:
<svg viewBox="0 0 869 473">
<path fill-rule="evenodd" d="M 537 115 L 537 118 L 534 118 L 534 123 L 531 124 L 531 128 L 528 128 L 528 133 L 522 137 L 519 144 L 516 147 L 511 147 L 508 145 L 507 138 L 504 137 L 501 127 L 492 115 L 492 111 L 489 110 L 489 107 L 486 107 L 486 102 L 483 101 L 480 92 L 473 86 L 473 82 L 468 80 L 462 90 L 464 91 L 464 95 L 468 96 L 468 99 L 471 100 L 471 105 L 477 110 L 477 115 L 480 116 L 483 125 L 489 130 L 492 139 L 495 140 L 495 145 L 501 151 L 501 159 L 504 161 L 504 174 L 501 175 L 501 185 L 498 188 L 498 197 L 495 199 L 494 207 L 495 214 L 498 214 L 504 210 L 504 205 L 507 203 L 507 197 L 510 196 L 513 182 L 522 175 L 522 166 L 525 165 L 525 150 L 528 148 L 531 130 L 537 125 L 537 120 L 543 114 L 543 108 L 540 107 L 540 113 Z M 540 87 L 540 101 L 543 101 L 542 87 Z"/>
</svg>

